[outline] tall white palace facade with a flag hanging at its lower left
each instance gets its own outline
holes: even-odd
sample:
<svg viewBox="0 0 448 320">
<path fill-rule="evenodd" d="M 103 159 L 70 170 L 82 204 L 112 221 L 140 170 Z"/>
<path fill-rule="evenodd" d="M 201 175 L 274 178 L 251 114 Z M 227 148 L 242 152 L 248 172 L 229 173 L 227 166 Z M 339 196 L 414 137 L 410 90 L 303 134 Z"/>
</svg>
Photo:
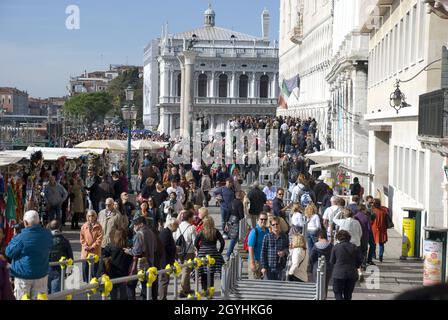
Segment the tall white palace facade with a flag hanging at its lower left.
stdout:
<svg viewBox="0 0 448 320">
<path fill-rule="evenodd" d="M 287 100 L 288 109 L 278 115 L 314 117 L 320 140 L 328 146 L 333 38 L 333 1 L 280 0 L 280 84 L 300 77 L 300 88 Z"/>
</svg>

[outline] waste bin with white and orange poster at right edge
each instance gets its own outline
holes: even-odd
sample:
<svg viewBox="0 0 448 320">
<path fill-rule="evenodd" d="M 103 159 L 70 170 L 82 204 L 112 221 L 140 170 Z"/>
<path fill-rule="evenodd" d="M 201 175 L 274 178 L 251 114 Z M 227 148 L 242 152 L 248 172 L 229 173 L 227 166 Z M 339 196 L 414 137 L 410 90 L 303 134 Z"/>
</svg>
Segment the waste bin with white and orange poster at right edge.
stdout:
<svg viewBox="0 0 448 320">
<path fill-rule="evenodd" d="M 425 227 L 423 285 L 446 283 L 448 229 Z"/>
</svg>

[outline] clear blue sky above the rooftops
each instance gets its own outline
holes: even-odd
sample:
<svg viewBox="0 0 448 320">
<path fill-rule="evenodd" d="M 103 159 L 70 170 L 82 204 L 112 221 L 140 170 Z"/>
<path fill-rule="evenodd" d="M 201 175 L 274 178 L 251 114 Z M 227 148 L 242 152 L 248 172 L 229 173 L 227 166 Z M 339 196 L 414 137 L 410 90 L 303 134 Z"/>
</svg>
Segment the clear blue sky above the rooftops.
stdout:
<svg viewBox="0 0 448 320">
<path fill-rule="evenodd" d="M 202 26 L 208 3 L 217 26 L 254 36 L 266 7 L 270 39 L 278 39 L 278 0 L 0 0 L 0 86 L 62 96 L 70 75 L 142 65 L 143 47 L 165 22 L 170 33 Z M 69 5 L 80 9 L 79 30 L 66 28 Z"/>
</svg>

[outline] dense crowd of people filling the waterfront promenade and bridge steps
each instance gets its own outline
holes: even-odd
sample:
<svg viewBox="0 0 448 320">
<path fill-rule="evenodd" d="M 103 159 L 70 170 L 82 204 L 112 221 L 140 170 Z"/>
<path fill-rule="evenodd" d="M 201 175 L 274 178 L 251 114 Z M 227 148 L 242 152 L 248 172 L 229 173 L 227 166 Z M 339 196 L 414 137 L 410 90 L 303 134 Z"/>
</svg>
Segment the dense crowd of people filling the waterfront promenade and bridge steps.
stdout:
<svg viewBox="0 0 448 320">
<path fill-rule="evenodd" d="M 73 256 L 62 232 L 68 220 L 72 229 L 80 229 L 81 258 L 89 254 L 101 257 L 94 268 L 84 263 L 85 281 L 89 276 L 117 278 L 142 268 L 162 269 L 175 260 L 185 262 L 209 255 L 216 261 L 211 283 L 207 283 L 205 267 L 197 272 L 183 269 L 180 297 L 194 293 L 192 277 L 199 277 L 207 291 L 234 251 L 241 236 L 240 221 L 246 218 L 252 277 L 313 281 L 318 257 L 324 255 L 327 279 L 333 279 L 336 298 L 349 299 L 358 269 L 374 263 L 376 245 L 382 261 L 387 241 L 386 209 L 378 199 L 367 197 L 364 202 L 358 181 L 351 186 L 352 203 L 346 204 L 332 194 L 322 177 L 316 179 L 308 173 L 313 162 L 305 155 L 319 151 L 321 145 L 314 119 L 236 117 L 229 121 L 229 127 L 278 130 L 280 185 L 274 181 L 264 185 L 261 179 L 246 193 L 242 185 L 249 171 L 247 164 L 234 161 L 206 166 L 193 161 L 175 165 L 166 153 L 157 157 L 146 154 L 132 181 L 128 181 L 124 165 L 112 172 L 97 170 L 86 162 L 71 173 L 51 166 L 42 169 L 43 201 L 34 207 L 23 205 L 23 221 L 18 221 L 23 225 L 15 229 L 12 239 L 5 241 L 0 234 L 0 260 L 6 257 L 11 264 L 14 296 L 35 299 L 38 293 L 60 290 L 63 279 L 56 272 L 59 267 L 48 268 L 48 262 Z M 64 146 L 85 139 L 115 139 L 120 134 L 98 128 L 88 136 L 69 135 Z M 151 138 L 167 139 L 159 135 Z M 286 195 L 288 204 L 283 200 Z M 209 214 L 212 199 L 220 208 L 219 229 Z M 224 254 L 225 240 L 230 241 Z M 167 298 L 169 280 L 164 275 L 159 284 L 153 284 L 153 299 Z M 136 299 L 137 284 L 114 286 L 111 298 Z M 145 297 L 146 290 L 140 294 Z"/>
</svg>

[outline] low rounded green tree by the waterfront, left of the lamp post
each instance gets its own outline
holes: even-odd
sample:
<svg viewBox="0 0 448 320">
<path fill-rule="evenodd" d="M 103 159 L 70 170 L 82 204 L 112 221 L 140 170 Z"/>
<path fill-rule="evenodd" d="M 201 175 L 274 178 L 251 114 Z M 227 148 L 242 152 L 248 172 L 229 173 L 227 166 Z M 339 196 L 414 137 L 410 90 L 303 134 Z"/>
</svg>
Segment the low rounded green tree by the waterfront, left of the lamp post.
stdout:
<svg viewBox="0 0 448 320">
<path fill-rule="evenodd" d="M 64 104 L 68 114 L 84 117 L 88 123 L 101 121 L 113 107 L 112 96 L 108 92 L 81 93 Z"/>
</svg>

